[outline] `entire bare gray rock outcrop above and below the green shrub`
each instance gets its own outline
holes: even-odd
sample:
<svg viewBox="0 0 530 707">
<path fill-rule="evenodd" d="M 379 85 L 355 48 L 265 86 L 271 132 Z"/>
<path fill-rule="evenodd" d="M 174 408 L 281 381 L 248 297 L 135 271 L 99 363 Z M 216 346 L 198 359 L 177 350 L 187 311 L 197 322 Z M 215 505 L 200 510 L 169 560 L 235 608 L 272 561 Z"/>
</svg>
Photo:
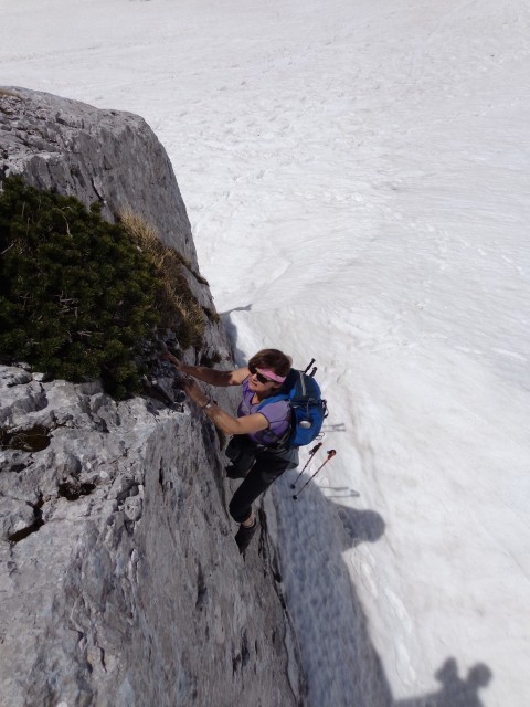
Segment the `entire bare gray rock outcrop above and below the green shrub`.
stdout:
<svg viewBox="0 0 530 707">
<path fill-rule="evenodd" d="M 145 147 L 156 138 L 140 118 L 11 92 L 0 92 L 3 175 L 78 197 L 86 188 L 87 201 L 103 194 L 108 218 L 132 193 L 141 213 L 158 213 L 167 242 L 192 252 L 171 168 L 158 144 Z M 130 154 L 140 149 L 142 158 Z M 132 183 L 124 165 L 136 159 L 168 184 L 163 208 L 157 190 Z M 197 287 L 206 300 L 208 287 Z M 209 323 L 206 340 L 188 360 L 229 358 L 220 326 Z M 159 383 L 171 394 L 169 370 Z M 230 391 L 216 398 L 233 403 Z M 116 403 L 97 382 L 0 367 L 2 705 L 303 701 L 267 536 L 239 555 L 223 464 L 214 428 L 193 405 Z"/>
</svg>

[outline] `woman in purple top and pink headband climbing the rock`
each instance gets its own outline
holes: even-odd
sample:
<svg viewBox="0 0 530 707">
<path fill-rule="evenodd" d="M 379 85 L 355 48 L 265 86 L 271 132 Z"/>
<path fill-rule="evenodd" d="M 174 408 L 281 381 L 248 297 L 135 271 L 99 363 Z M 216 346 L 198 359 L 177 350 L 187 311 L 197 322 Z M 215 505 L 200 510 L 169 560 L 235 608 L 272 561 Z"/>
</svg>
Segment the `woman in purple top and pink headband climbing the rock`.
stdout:
<svg viewBox="0 0 530 707">
<path fill-rule="evenodd" d="M 263 349 L 244 368 L 220 371 L 203 366 L 187 366 L 169 351 L 162 354 L 161 358 L 187 376 L 181 383 L 182 390 L 202 408 L 213 424 L 233 435 L 225 450 L 231 460 L 226 475 L 244 481 L 230 502 L 230 514 L 240 524 L 235 541 L 240 552 L 244 552 L 257 529 L 253 502 L 280 474 L 298 465 L 298 450 L 282 447 L 290 426 L 289 403 L 278 400 L 257 411 L 262 401 L 275 395 L 282 388 L 292 359 L 277 349 Z M 209 398 L 194 378 L 216 387 L 242 386 L 243 398 L 237 408 L 237 418 Z"/>
</svg>

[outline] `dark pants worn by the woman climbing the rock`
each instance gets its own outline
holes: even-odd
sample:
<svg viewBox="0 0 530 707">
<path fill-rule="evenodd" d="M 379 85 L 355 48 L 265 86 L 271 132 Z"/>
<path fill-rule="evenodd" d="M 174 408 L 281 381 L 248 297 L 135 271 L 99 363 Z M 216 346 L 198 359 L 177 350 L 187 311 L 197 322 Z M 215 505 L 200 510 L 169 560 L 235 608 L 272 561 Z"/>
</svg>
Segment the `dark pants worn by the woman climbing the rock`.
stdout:
<svg viewBox="0 0 530 707">
<path fill-rule="evenodd" d="M 271 484 L 288 468 L 298 465 L 296 450 L 276 452 L 258 447 L 246 435 L 232 437 L 226 447 L 226 455 L 233 466 L 244 474 L 243 483 L 230 502 L 230 515 L 237 523 L 247 520 L 252 514 L 253 502 L 263 494 Z"/>
</svg>

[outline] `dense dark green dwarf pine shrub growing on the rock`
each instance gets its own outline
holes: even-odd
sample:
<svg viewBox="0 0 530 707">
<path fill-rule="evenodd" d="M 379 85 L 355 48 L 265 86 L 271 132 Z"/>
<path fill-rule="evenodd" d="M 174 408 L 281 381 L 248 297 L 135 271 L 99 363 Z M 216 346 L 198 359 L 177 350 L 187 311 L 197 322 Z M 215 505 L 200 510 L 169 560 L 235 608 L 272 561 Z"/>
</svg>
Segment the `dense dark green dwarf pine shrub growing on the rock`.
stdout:
<svg viewBox="0 0 530 707">
<path fill-rule="evenodd" d="M 140 387 L 139 346 L 159 321 L 152 262 L 120 224 L 20 178 L 0 193 L 0 360 L 56 378 Z"/>
</svg>

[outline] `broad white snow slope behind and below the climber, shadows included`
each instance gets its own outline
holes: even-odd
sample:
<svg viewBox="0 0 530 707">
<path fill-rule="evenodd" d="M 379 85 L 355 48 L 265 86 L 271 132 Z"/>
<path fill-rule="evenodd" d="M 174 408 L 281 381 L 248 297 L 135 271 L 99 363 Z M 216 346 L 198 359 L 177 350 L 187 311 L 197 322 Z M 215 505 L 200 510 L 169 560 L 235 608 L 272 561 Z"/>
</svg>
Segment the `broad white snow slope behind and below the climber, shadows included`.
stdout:
<svg viewBox="0 0 530 707">
<path fill-rule="evenodd" d="M 274 492 L 309 704 L 526 706 L 529 6 L 0 12 L 0 83 L 157 131 L 242 359 L 318 360 L 337 457 Z"/>
</svg>

